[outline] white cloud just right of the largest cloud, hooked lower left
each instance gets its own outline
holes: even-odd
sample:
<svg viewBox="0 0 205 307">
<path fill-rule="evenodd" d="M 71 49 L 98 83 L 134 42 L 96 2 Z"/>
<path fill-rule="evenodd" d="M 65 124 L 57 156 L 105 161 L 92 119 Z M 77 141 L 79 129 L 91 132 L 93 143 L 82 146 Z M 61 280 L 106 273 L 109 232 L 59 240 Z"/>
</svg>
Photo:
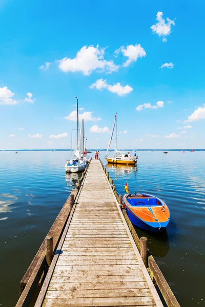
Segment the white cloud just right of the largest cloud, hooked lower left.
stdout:
<svg viewBox="0 0 205 307">
<path fill-rule="evenodd" d="M 128 60 L 122 64 L 122 66 L 127 67 L 132 62 L 136 62 L 137 58 L 142 58 L 146 56 L 145 50 L 141 47 L 141 45 L 136 43 L 136 45 L 128 45 L 127 48 L 124 46 L 119 47 L 119 49 L 115 50 L 114 54 L 117 56 L 119 53 L 122 53 L 124 56 L 128 57 Z"/>
</svg>

